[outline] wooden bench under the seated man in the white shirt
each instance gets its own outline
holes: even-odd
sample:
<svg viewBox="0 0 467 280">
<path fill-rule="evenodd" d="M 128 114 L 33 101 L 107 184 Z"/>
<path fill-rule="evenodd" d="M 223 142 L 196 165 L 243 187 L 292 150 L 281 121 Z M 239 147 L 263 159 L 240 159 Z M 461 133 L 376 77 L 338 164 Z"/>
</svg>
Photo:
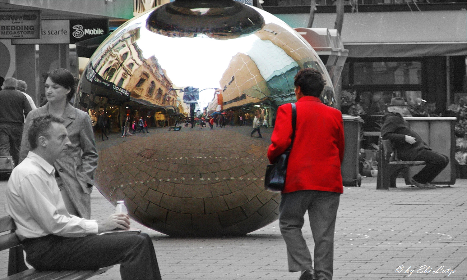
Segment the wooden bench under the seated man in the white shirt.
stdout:
<svg viewBox="0 0 467 280">
<path fill-rule="evenodd" d="M 0 250 L 10 249 L 8 254 L 8 277 L 2 279 L 88 279 L 94 275 L 104 273 L 113 266 L 99 268 L 98 270 L 62 270 L 62 271 L 38 271 L 29 269 L 24 262 L 23 246 L 14 232 L 16 226 L 10 216 L 1 217 L 2 234 Z"/>
</svg>

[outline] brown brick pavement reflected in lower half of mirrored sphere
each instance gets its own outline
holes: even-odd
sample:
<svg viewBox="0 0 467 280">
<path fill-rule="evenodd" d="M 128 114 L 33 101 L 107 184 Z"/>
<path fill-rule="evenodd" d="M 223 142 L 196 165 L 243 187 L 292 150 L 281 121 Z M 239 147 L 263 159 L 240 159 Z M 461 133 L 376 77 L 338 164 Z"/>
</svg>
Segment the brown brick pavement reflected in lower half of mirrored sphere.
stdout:
<svg viewBox="0 0 467 280">
<path fill-rule="evenodd" d="M 97 185 L 110 201 L 124 199 L 139 222 L 172 236 L 252 232 L 277 218 L 280 200 L 263 187 L 269 134 L 250 137 L 251 130 L 153 129 L 120 137 L 99 152 Z"/>
</svg>

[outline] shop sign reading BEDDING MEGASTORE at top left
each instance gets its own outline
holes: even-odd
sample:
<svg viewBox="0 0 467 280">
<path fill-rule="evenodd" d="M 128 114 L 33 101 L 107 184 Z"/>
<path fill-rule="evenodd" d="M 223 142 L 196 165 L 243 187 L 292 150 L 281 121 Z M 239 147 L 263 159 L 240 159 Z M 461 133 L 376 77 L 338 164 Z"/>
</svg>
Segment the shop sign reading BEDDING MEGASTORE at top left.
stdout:
<svg viewBox="0 0 467 280">
<path fill-rule="evenodd" d="M 2 39 L 41 38 L 39 11 L 1 11 Z"/>
</svg>

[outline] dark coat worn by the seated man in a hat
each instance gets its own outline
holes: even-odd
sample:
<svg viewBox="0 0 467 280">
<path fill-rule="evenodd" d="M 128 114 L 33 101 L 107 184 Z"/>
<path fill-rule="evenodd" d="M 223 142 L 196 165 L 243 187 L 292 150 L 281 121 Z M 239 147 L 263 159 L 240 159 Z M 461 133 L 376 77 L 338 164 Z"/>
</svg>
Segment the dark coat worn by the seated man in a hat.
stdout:
<svg viewBox="0 0 467 280">
<path fill-rule="evenodd" d="M 401 160 L 415 160 L 420 150 L 431 150 L 422 138 L 410 129 L 410 124 L 403 119 L 399 113 L 389 113 L 383 116 L 383 125 L 381 128 L 381 137 L 391 140 L 396 146 L 397 157 Z M 405 136 L 415 137 L 415 143 L 405 142 Z"/>
</svg>

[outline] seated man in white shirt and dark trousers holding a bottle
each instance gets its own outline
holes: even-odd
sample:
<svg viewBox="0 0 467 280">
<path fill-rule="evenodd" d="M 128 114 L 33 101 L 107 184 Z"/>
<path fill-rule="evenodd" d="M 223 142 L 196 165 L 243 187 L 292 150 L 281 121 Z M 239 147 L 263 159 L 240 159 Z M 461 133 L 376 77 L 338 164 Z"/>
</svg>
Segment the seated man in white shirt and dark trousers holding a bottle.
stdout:
<svg viewBox="0 0 467 280">
<path fill-rule="evenodd" d="M 11 173 L 5 207 L 28 263 L 38 270 L 91 270 L 120 263 L 122 279 L 161 279 L 149 235 L 96 235 L 129 228 L 127 214 L 97 222 L 66 210 L 52 165 L 71 145 L 62 121 L 50 115 L 35 118 L 28 140 L 32 150 Z"/>
</svg>

